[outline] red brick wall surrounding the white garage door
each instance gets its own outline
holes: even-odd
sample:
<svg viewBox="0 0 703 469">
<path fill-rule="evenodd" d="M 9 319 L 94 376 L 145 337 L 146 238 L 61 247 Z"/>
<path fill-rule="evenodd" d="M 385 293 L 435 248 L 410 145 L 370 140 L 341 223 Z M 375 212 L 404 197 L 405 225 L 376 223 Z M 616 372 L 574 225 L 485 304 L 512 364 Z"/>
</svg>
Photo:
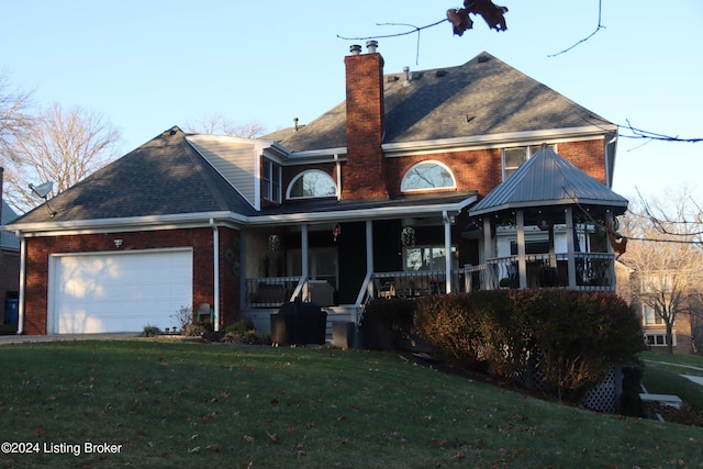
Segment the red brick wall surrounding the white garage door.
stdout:
<svg viewBox="0 0 703 469">
<path fill-rule="evenodd" d="M 238 237 L 238 232 L 220 228 L 220 312 L 223 325 L 236 321 L 239 313 L 238 277 L 225 259 L 226 248 L 234 245 L 235 237 Z M 25 334 L 46 334 L 49 256 L 59 253 L 114 252 L 115 238 L 123 241 L 121 250 L 192 247 L 193 311 L 200 303 L 214 304 L 213 234 L 210 227 L 27 238 Z M 239 261 L 238 249 L 233 252 L 234 260 Z"/>
</svg>

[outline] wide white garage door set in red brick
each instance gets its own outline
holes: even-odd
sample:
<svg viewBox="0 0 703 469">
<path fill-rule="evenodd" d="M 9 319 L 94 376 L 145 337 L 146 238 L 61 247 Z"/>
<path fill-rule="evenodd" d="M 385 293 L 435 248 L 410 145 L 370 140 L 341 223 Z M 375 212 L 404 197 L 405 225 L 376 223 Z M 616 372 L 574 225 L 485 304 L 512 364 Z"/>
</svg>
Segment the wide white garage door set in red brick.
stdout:
<svg viewBox="0 0 703 469">
<path fill-rule="evenodd" d="M 52 257 L 48 333 L 141 332 L 179 325 L 192 305 L 192 250 Z"/>
</svg>

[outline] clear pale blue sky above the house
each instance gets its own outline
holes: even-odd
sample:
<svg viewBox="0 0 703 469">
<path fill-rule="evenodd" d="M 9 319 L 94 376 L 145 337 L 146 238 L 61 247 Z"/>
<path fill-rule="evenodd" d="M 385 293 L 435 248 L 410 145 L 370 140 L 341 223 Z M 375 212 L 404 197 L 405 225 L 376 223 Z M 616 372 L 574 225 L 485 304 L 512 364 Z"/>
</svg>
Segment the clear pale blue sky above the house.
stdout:
<svg viewBox="0 0 703 469">
<path fill-rule="evenodd" d="M 703 137 L 703 2 L 503 0 L 507 31 L 453 36 L 448 23 L 379 38 L 386 72 L 456 66 L 487 51 L 605 119 Z M 123 132 L 124 154 L 172 125 L 220 113 L 267 131 L 306 123 L 344 100 L 338 36 L 408 31 L 461 1 L 0 0 L 0 69 L 40 103 L 81 105 Z M 627 132 L 623 132 L 626 134 Z M 703 143 L 621 137 L 614 189 L 633 197 L 698 188 Z"/>
</svg>

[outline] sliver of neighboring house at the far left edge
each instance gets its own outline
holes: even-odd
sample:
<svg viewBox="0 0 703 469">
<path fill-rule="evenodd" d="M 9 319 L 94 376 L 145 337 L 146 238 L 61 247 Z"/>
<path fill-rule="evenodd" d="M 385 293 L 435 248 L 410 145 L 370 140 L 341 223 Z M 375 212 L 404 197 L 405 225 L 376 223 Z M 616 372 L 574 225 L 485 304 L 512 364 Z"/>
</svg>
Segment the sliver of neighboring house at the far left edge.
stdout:
<svg viewBox="0 0 703 469">
<path fill-rule="evenodd" d="M 11 223 L 18 215 L 2 200 L 4 170 L 0 167 L 0 226 Z M 20 291 L 20 239 L 12 233 L 0 231 L 0 323 L 16 321 L 16 300 Z"/>
</svg>

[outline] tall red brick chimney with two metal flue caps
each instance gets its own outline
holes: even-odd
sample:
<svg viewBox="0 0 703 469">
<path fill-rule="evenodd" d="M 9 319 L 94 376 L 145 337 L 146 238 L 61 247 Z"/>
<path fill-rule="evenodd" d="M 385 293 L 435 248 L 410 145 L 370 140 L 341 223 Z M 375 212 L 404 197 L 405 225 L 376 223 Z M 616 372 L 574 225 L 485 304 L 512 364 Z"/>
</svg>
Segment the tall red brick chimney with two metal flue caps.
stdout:
<svg viewBox="0 0 703 469">
<path fill-rule="evenodd" d="M 378 43 L 368 41 L 367 54 L 353 45 L 344 58 L 347 87 L 347 163 L 342 198 L 388 199 L 383 143 L 383 57 Z"/>
</svg>

